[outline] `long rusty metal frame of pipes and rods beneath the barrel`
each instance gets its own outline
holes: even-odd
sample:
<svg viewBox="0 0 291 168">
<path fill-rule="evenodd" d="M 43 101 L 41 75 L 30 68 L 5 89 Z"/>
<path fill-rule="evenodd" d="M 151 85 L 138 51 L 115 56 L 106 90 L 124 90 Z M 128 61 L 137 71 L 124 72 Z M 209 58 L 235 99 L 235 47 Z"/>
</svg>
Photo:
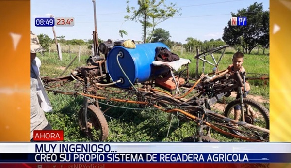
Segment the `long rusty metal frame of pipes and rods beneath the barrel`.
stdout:
<svg viewBox="0 0 291 168">
<path fill-rule="evenodd" d="M 103 62 L 104 63 L 104 62 Z M 101 66 L 101 65 L 100 65 Z M 83 67 L 84 68 L 84 67 Z M 204 96 L 201 96 L 203 92 L 205 92 L 204 90 L 199 89 L 199 87 L 197 86 L 199 83 L 201 83 L 203 76 L 201 76 L 195 83 L 192 83 L 193 86 L 191 85 L 191 83 L 188 83 L 187 85 L 182 86 L 181 88 L 184 89 L 183 92 L 177 92 L 178 89 L 176 89 L 175 94 L 171 94 L 169 92 L 163 91 L 163 90 L 159 90 L 156 89 L 154 86 L 152 86 L 152 84 L 144 84 L 144 89 L 142 87 L 138 87 L 137 92 L 133 89 L 121 89 L 118 88 L 116 85 L 114 84 L 110 84 L 110 83 L 102 83 L 103 82 L 103 78 L 106 78 L 106 76 L 92 76 L 89 75 L 90 72 L 85 71 L 86 74 L 85 76 L 82 77 L 82 70 L 78 69 L 79 73 L 74 72 L 74 74 L 72 73 L 71 76 L 67 76 L 66 80 L 68 81 L 73 81 L 71 78 L 72 76 L 75 76 L 75 79 L 79 79 L 80 82 L 84 85 L 84 89 L 83 92 L 64 92 L 64 91 L 57 91 L 57 90 L 53 90 L 53 89 L 49 89 L 49 86 L 47 86 L 47 90 L 54 92 L 54 93 L 62 93 L 62 94 L 70 94 L 70 95 L 81 95 L 84 96 L 84 102 L 83 102 L 83 110 L 85 113 L 85 119 L 80 119 L 80 120 L 85 120 L 86 119 L 86 107 L 88 106 L 88 99 L 92 99 L 95 103 L 95 105 L 98 107 L 98 100 L 106 100 L 107 102 L 110 101 L 115 101 L 115 102 L 124 102 L 124 103 L 134 103 L 134 104 L 141 104 L 141 105 L 147 105 L 150 107 L 155 107 L 164 112 L 167 113 L 179 113 L 183 116 L 185 116 L 186 118 L 193 120 L 197 123 L 197 128 L 198 130 L 200 129 L 204 129 L 207 128 L 208 130 L 208 135 L 209 134 L 209 129 L 213 129 L 215 131 L 218 131 L 222 134 L 225 134 L 227 136 L 231 136 L 231 137 L 236 137 L 236 138 L 240 138 L 242 140 L 246 140 L 246 141 L 256 141 L 256 142 L 260 142 L 260 141 L 268 141 L 266 139 L 259 139 L 259 138 L 250 138 L 250 137 L 242 137 L 242 136 L 238 136 L 229 132 L 226 132 L 225 130 L 223 130 L 223 128 L 227 128 L 229 130 L 236 130 L 236 131 L 242 131 L 240 129 L 236 129 L 233 127 L 228 126 L 227 122 L 232 122 L 235 124 L 238 124 L 242 127 L 247 127 L 248 129 L 250 129 L 250 131 L 252 132 L 252 130 L 259 130 L 261 132 L 264 132 L 264 134 L 269 134 L 269 130 L 265 129 L 265 128 L 260 128 L 257 127 L 255 125 L 252 124 L 248 124 L 246 122 L 236 122 L 230 118 L 227 118 L 223 115 L 220 115 L 218 113 L 215 113 L 214 111 L 211 111 L 208 109 L 208 101 L 209 99 L 206 99 Z M 185 70 L 188 71 L 188 68 L 186 68 Z M 182 72 L 185 72 L 185 70 L 182 70 L 179 72 L 179 75 L 181 75 Z M 188 74 L 188 72 L 187 72 Z M 172 75 L 174 76 L 174 73 L 172 73 Z M 240 75 L 238 75 L 240 76 Z M 81 79 L 84 78 L 84 80 L 82 81 Z M 175 79 L 175 76 L 174 76 Z M 60 77 L 59 80 L 58 79 L 49 79 L 46 78 L 46 82 L 45 84 L 48 85 L 50 82 L 52 81 L 52 83 L 55 83 L 56 81 L 63 81 L 64 82 L 65 77 Z M 231 79 L 229 79 L 231 80 Z M 240 80 L 242 81 L 242 79 Z M 152 82 L 150 82 L 152 83 Z M 175 82 L 177 83 L 177 81 Z M 100 88 L 100 86 L 104 86 L 103 88 Z M 179 87 L 179 86 L 178 86 Z M 177 87 L 177 88 L 178 88 Z M 233 85 L 226 87 L 222 90 L 218 90 L 214 92 L 214 96 L 224 93 L 224 92 L 228 92 L 231 91 L 235 88 L 240 88 L 241 87 L 241 83 L 234 83 Z M 118 99 L 115 97 L 109 97 L 110 96 L 110 92 L 113 92 L 113 90 L 111 90 L 111 88 L 114 88 L 114 92 L 123 92 L 126 93 L 128 95 L 128 97 L 130 97 L 131 99 Z M 116 89 L 118 89 L 116 91 Z M 191 93 L 191 92 L 197 92 L 197 94 L 195 94 L 194 96 L 191 96 L 190 98 L 186 98 L 186 96 Z M 140 97 L 140 101 L 136 101 L 134 100 L 134 98 L 138 98 L 140 95 L 142 95 L 142 97 Z M 109 107 L 111 108 L 111 107 Z M 108 108 L 108 109 L 109 109 Z M 105 109 L 104 111 L 108 111 L 108 109 Z M 219 119 L 216 122 L 211 122 L 210 119 Z M 217 126 L 219 125 L 219 126 Z M 86 128 L 85 131 L 88 131 L 88 129 Z M 201 130 L 200 130 L 201 132 Z M 251 133 L 248 133 L 251 134 Z M 201 138 L 201 135 L 199 132 L 197 132 L 197 136 L 199 138 Z M 254 137 L 256 137 L 257 135 L 253 135 Z M 198 138 L 198 139 L 199 139 Z M 200 139 L 201 140 L 201 139 Z"/>
</svg>

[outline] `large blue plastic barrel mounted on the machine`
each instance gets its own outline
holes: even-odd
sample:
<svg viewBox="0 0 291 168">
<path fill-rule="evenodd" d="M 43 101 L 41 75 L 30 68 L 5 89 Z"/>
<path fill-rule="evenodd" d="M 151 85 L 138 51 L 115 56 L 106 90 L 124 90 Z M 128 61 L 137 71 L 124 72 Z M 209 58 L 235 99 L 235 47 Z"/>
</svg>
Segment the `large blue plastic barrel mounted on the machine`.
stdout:
<svg viewBox="0 0 291 168">
<path fill-rule="evenodd" d="M 113 81 L 120 79 L 123 81 L 122 83 L 116 84 L 118 87 L 129 88 L 131 87 L 129 80 L 132 84 L 135 82 L 142 83 L 148 81 L 154 75 L 165 73 L 168 69 L 159 68 L 157 70 L 157 68 L 152 65 L 157 47 L 166 47 L 169 49 L 168 46 L 161 42 L 138 44 L 136 48 L 125 48 L 123 46 L 114 47 L 108 53 L 106 60 L 109 76 Z M 129 80 L 118 65 L 118 54 L 120 54 L 120 56 L 118 56 L 118 61 Z"/>
</svg>

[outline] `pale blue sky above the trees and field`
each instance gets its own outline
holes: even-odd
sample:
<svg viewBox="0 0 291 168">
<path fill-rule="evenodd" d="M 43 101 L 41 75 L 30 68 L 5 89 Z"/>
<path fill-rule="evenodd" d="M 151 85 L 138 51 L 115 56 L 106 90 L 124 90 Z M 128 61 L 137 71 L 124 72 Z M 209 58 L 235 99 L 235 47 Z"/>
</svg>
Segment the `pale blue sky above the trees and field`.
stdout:
<svg viewBox="0 0 291 168">
<path fill-rule="evenodd" d="M 142 25 L 135 21 L 125 21 L 127 0 L 96 0 L 97 32 L 102 40 L 132 39 L 142 40 Z M 181 15 L 176 15 L 157 25 L 169 31 L 171 40 L 186 43 L 188 37 L 198 40 L 222 38 L 223 29 L 231 18 L 231 12 L 247 8 L 251 4 L 262 3 L 264 10 L 269 9 L 269 0 L 166 0 L 181 8 Z M 129 0 L 130 6 L 137 7 L 137 0 Z M 47 34 L 54 38 L 51 27 L 36 27 L 37 17 L 74 17 L 71 27 L 54 27 L 56 36 L 65 39 L 93 39 L 94 6 L 92 0 L 31 0 L 31 31 L 35 34 Z M 119 30 L 128 35 L 121 38 Z"/>
</svg>

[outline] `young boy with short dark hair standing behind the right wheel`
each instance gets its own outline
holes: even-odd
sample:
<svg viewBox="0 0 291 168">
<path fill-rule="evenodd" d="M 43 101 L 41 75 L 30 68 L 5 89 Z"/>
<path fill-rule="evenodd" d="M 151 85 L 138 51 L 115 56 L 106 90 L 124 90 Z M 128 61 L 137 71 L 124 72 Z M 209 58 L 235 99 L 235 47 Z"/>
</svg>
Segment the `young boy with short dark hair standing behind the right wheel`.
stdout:
<svg viewBox="0 0 291 168">
<path fill-rule="evenodd" d="M 228 73 L 234 74 L 235 72 L 245 72 L 245 69 L 242 66 L 242 63 L 244 61 L 243 57 L 244 55 L 241 52 L 236 52 L 233 55 L 232 64 L 227 67 Z M 251 90 L 250 85 L 247 81 L 245 82 L 244 85 L 245 85 L 246 93 L 248 94 L 249 91 Z M 242 92 L 244 92 L 244 87 L 242 87 Z M 243 94 L 242 96 L 245 97 L 246 95 Z M 236 99 L 239 99 L 239 98 L 240 98 L 240 95 L 238 94 Z M 255 117 L 254 111 L 251 107 L 249 107 L 249 111 L 252 117 Z M 234 107 L 234 120 L 238 122 L 240 117 L 241 117 L 241 106 L 237 105 Z"/>
</svg>

